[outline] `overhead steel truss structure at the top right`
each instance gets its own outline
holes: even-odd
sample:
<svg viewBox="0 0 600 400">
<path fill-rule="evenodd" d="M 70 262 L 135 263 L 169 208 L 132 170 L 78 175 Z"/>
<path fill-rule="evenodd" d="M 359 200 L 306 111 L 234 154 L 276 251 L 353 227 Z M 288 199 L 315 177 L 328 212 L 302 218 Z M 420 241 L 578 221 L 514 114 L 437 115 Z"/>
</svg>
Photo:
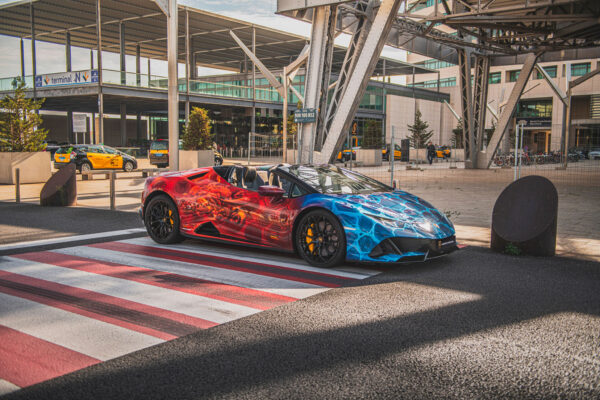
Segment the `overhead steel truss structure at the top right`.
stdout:
<svg viewBox="0 0 600 400">
<path fill-rule="evenodd" d="M 352 33 L 367 0 L 317 1 L 337 5 L 338 27 Z M 306 22 L 310 0 L 278 0 L 277 12 Z M 341 4 L 340 4 L 341 3 Z M 458 64 L 457 50 L 491 56 L 492 65 L 522 64 L 526 53 L 539 61 L 595 58 L 600 51 L 598 0 L 437 0 L 429 15 L 426 0 L 402 0 L 386 45 Z M 311 7 L 308 5 L 308 7 Z M 312 6 L 314 7 L 314 6 Z M 445 25 L 448 29 L 441 29 Z"/>
</svg>

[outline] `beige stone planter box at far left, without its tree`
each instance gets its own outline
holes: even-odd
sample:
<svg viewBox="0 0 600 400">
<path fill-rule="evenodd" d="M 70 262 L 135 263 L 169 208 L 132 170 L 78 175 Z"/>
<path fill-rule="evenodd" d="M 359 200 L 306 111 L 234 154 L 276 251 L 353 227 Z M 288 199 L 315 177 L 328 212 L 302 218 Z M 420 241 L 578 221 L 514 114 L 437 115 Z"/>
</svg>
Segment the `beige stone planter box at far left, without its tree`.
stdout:
<svg viewBox="0 0 600 400">
<path fill-rule="evenodd" d="M 19 168 L 21 183 L 44 183 L 52 175 L 50 152 L 0 153 L 0 184 L 16 183 L 15 169 Z"/>
</svg>

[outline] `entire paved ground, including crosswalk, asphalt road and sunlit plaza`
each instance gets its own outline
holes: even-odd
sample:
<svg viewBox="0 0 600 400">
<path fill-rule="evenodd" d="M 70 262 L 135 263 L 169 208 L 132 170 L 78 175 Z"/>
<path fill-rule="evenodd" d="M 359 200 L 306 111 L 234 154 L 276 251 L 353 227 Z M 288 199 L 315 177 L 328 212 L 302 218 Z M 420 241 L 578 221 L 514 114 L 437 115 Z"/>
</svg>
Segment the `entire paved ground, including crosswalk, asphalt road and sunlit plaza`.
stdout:
<svg viewBox="0 0 600 400">
<path fill-rule="evenodd" d="M 436 169 L 405 171 L 402 187 L 454 212 L 471 246 L 384 271 L 317 271 L 297 257 L 197 241 L 165 249 L 143 232 L 81 239 L 141 227 L 130 212 L 141 178 L 117 181 L 119 211 L 108 210 L 106 180 L 78 182 L 72 208 L 35 205 L 40 185 L 25 185 L 31 204 L 17 205 L 0 186 L 0 393 L 600 397 L 600 182 L 557 185 L 563 257 L 511 257 L 485 247 L 503 186 Z M 52 237 L 64 242 L 14 243 Z M 291 301 L 265 304 L 271 295 Z"/>
</svg>

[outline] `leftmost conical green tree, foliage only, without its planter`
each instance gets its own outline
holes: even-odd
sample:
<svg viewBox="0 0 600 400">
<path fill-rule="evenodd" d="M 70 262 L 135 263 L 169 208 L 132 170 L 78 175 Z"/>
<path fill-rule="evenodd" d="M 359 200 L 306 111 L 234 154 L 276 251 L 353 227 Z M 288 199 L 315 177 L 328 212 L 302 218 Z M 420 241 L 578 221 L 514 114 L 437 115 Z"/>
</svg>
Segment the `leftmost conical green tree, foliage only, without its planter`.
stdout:
<svg viewBox="0 0 600 400">
<path fill-rule="evenodd" d="M 45 99 L 33 100 L 25 97 L 25 82 L 15 78 L 14 96 L 6 95 L 0 100 L 0 151 L 35 152 L 46 148 L 48 135 L 39 129 L 42 117 L 36 113 Z"/>
</svg>

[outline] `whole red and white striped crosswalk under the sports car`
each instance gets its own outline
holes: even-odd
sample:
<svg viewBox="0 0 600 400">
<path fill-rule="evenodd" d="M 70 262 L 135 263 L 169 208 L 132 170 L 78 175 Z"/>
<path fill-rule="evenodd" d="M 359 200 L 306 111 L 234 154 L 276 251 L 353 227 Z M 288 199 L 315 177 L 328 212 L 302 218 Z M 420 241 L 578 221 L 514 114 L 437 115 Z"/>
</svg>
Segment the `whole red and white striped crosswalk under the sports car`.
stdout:
<svg viewBox="0 0 600 400">
<path fill-rule="evenodd" d="M 0 257 L 0 395 L 378 273 L 149 238 Z"/>
</svg>

